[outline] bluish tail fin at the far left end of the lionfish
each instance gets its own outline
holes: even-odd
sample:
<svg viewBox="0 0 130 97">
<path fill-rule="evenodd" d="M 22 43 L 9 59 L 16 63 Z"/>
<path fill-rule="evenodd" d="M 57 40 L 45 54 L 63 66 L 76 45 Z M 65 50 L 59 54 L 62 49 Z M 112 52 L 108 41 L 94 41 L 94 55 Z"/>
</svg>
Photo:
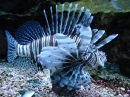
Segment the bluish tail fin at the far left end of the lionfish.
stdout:
<svg viewBox="0 0 130 97">
<path fill-rule="evenodd" d="M 5 31 L 5 35 L 6 35 L 7 41 L 8 41 L 7 60 L 8 60 L 8 62 L 12 62 L 17 57 L 16 45 L 18 43 L 7 30 Z"/>
</svg>

